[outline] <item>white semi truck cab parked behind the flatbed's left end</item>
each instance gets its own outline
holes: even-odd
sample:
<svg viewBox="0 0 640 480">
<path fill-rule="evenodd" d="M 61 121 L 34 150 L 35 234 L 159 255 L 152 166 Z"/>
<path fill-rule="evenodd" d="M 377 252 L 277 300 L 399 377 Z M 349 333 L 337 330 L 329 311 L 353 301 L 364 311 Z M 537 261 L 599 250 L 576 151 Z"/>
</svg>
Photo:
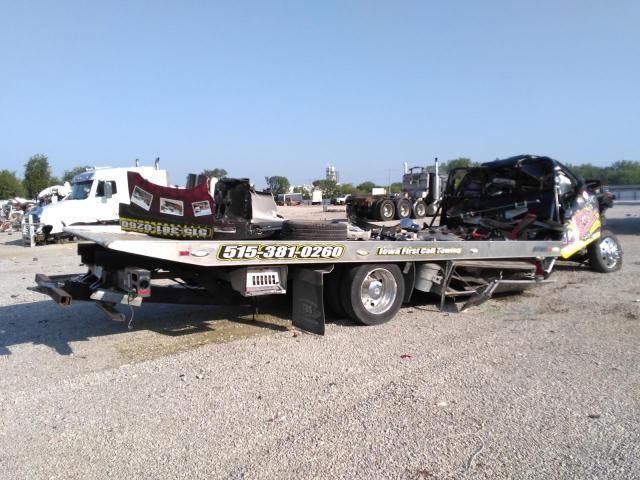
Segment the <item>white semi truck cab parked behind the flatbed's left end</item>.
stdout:
<svg viewBox="0 0 640 480">
<path fill-rule="evenodd" d="M 158 185 L 168 186 L 166 170 L 155 167 L 93 168 L 76 175 L 71 194 L 64 200 L 32 210 L 35 241 L 68 237 L 71 225 L 108 224 L 118 221 L 120 203 L 129 203 L 127 172 L 133 171 Z"/>
</svg>

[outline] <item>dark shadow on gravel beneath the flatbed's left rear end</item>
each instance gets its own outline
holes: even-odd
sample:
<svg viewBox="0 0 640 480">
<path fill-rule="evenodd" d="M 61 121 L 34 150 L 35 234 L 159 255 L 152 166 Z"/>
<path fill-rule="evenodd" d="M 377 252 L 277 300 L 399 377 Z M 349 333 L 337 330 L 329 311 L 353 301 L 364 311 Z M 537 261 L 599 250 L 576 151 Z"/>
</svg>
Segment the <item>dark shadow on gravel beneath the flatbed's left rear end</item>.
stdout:
<svg viewBox="0 0 640 480">
<path fill-rule="evenodd" d="M 133 330 L 147 330 L 167 337 L 208 335 L 220 322 L 227 321 L 247 329 L 286 331 L 290 319 L 288 302 L 259 305 L 255 318 L 250 306 L 211 307 L 148 304 L 135 310 Z M 128 307 L 119 307 L 129 315 Z M 243 328 L 235 328 L 242 338 Z M 51 301 L 0 307 L 0 356 L 11 355 L 10 347 L 22 344 L 45 345 L 60 355 L 71 355 L 71 343 L 97 337 L 134 334 L 126 323 L 109 320 L 93 302 L 76 302 L 61 308 Z M 207 337 L 209 338 L 209 337 Z M 213 339 L 215 341 L 215 339 Z"/>
</svg>

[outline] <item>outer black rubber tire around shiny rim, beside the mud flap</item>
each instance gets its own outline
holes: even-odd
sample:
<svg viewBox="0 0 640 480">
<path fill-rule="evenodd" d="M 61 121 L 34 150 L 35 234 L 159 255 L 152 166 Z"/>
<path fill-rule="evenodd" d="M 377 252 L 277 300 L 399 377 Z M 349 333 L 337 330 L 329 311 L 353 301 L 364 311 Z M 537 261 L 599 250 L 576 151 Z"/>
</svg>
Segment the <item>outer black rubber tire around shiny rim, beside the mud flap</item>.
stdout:
<svg viewBox="0 0 640 480">
<path fill-rule="evenodd" d="M 366 310 L 360 295 L 365 278 L 371 271 L 377 269 L 384 269 L 391 273 L 397 287 L 391 307 L 381 314 L 373 314 Z M 400 310 L 404 299 L 404 288 L 404 277 L 397 265 L 369 263 L 351 267 L 345 272 L 342 279 L 342 290 L 340 292 L 342 307 L 348 316 L 356 322 L 360 322 L 363 325 L 381 325 L 391 320 Z"/>
</svg>

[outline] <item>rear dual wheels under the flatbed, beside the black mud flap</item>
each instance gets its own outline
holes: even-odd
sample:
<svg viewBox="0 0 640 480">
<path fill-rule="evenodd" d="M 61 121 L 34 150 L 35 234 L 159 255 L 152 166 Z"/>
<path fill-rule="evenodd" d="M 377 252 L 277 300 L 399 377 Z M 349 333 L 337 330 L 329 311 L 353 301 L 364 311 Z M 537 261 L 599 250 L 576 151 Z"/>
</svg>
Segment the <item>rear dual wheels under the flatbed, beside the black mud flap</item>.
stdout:
<svg viewBox="0 0 640 480">
<path fill-rule="evenodd" d="M 327 304 L 339 316 L 364 325 L 391 320 L 404 298 L 404 278 L 397 265 L 365 264 L 327 278 Z"/>
</svg>

